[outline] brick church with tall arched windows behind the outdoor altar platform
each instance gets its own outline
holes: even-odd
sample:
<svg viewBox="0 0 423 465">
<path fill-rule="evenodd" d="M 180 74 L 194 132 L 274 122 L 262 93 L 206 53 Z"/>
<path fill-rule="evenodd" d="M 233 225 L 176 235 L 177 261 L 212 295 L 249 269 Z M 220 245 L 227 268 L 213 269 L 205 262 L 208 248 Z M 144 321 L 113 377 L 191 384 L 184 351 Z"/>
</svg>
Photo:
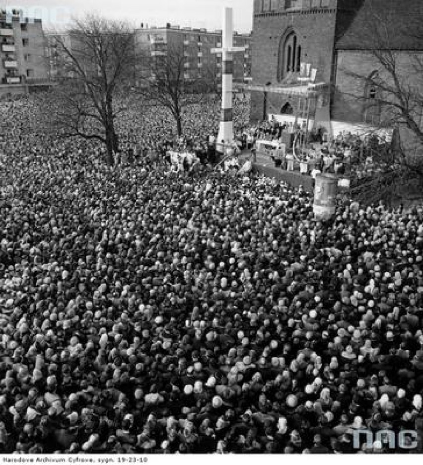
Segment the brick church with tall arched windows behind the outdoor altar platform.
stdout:
<svg viewBox="0 0 423 465">
<path fill-rule="evenodd" d="M 335 137 L 377 125 L 379 90 L 350 73 L 371 77 L 380 68 L 370 17 L 381 18 L 383 47 L 406 70 L 411 54 L 423 52 L 421 31 L 413 34 L 422 0 L 254 0 L 252 121 L 274 115 Z"/>
</svg>

